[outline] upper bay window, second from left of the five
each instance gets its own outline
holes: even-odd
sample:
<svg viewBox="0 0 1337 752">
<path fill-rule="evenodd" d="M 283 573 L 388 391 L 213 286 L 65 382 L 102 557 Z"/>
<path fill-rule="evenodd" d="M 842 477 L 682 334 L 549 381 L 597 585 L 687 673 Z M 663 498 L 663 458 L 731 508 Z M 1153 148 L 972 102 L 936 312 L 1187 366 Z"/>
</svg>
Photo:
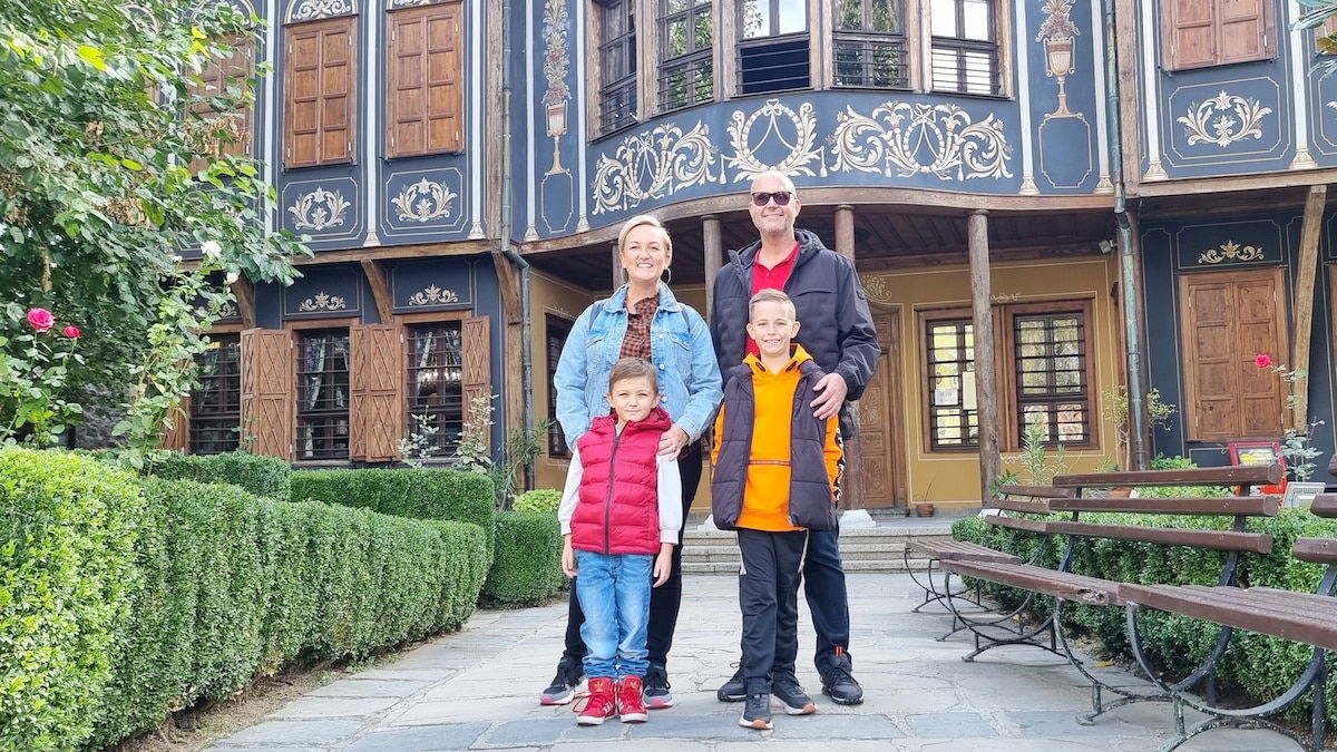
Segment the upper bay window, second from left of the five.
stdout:
<svg viewBox="0 0 1337 752">
<path fill-rule="evenodd" d="M 715 23 L 710 0 L 659 1 L 659 108 L 714 99 Z"/>
</svg>

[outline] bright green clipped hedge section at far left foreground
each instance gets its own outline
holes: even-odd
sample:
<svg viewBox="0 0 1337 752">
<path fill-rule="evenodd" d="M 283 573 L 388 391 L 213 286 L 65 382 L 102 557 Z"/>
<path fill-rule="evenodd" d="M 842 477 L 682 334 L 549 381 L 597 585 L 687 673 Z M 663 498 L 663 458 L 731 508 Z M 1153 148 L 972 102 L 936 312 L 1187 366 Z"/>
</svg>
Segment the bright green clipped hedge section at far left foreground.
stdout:
<svg viewBox="0 0 1337 752">
<path fill-rule="evenodd" d="M 91 733 L 143 514 L 132 475 L 0 450 L 0 749 L 68 749 Z"/>
</svg>

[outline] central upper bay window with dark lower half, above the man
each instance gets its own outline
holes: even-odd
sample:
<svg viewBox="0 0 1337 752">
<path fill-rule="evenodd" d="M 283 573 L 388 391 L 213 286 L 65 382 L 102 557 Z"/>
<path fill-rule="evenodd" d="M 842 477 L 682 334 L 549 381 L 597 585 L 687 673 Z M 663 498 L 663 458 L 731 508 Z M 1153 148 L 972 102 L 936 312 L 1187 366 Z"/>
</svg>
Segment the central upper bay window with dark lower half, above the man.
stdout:
<svg viewBox="0 0 1337 752">
<path fill-rule="evenodd" d="M 810 86 L 805 0 L 742 0 L 738 36 L 738 94 Z"/>
</svg>

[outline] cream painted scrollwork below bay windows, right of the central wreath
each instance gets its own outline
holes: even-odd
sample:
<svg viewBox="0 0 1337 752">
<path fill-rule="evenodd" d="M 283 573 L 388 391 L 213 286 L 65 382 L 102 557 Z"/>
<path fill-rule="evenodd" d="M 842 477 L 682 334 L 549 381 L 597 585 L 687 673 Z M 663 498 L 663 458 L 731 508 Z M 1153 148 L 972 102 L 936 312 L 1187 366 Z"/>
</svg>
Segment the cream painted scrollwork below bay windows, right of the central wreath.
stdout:
<svg viewBox="0 0 1337 752">
<path fill-rule="evenodd" d="M 889 100 L 872 115 L 845 106 L 832 135 L 834 170 L 943 181 L 1011 178 L 1012 146 L 992 112 L 980 122 L 956 104 Z"/>
</svg>

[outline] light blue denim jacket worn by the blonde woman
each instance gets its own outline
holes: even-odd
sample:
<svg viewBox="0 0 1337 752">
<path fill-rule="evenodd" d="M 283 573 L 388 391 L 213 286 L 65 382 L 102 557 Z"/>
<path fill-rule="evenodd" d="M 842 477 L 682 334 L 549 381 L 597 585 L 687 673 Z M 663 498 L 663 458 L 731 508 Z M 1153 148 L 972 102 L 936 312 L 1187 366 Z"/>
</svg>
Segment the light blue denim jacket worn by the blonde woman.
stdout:
<svg viewBox="0 0 1337 752">
<path fill-rule="evenodd" d="M 567 446 L 575 446 L 590 430 L 592 417 L 608 413 L 608 372 L 622 355 L 626 335 L 626 285 L 587 308 L 571 326 L 554 376 L 558 423 Z M 659 372 L 660 404 L 674 426 L 695 442 L 723 397 L 719 364 L 706 320 L 678 302 L 667 285 L 659 285 L 659 309 L 650 322 L 650 360 Z"/>
</svg>

